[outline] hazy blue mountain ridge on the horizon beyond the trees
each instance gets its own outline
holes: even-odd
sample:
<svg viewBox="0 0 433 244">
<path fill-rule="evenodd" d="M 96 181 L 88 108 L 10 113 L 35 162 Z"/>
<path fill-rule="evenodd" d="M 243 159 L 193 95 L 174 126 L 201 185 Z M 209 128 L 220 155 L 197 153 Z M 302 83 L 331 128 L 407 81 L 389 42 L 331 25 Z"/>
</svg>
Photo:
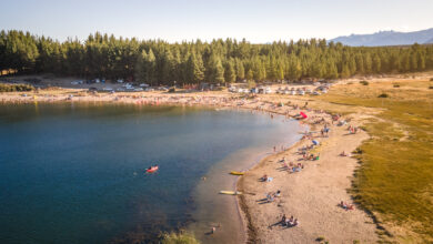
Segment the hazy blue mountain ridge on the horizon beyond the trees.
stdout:
<svg viewBox="0 0 433 244">
<path fill-rule="evenodd" d="M 413 32 L 380 31 L 373 34 L 351 34 L 338 37 L 330 41 L 341 42 L 346 45 L 404 45 L 433 43 L 433 28 Z"/>
</svg>

